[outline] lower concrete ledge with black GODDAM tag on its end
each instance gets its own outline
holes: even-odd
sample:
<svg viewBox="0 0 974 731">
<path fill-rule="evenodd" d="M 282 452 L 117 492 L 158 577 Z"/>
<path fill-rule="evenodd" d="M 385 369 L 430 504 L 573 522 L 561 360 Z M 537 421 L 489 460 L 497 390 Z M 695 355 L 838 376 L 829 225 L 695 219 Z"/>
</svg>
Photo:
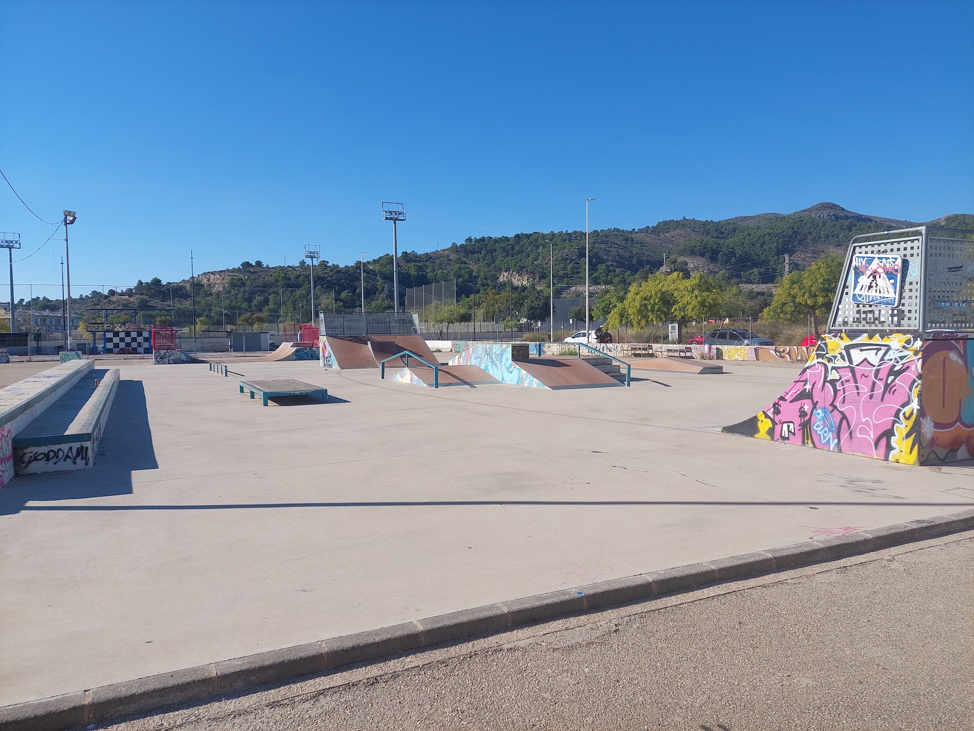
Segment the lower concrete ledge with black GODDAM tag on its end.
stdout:
<svg viewBox="0 0 974 731">
<path fill-rule="evenodd" d="M 14 438 L 18 475 L 94 467 L 119 369 L 90 371 Z"/>
</svg>

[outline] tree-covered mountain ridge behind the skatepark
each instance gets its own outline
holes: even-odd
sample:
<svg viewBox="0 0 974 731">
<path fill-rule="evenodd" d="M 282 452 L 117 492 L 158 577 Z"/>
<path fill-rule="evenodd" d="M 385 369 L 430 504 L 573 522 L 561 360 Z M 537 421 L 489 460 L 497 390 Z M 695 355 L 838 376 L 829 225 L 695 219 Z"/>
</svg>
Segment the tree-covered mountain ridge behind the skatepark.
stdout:
<svg viewBox="0 0 974 731">
<path fill-rule="evenodd" d="M 929 223 L 974 228 L 974 215 L 954 213 Z M 665 266 L 711 275 L 723 273 L 727 280 L 741 284 L 768 284 L 783 274 L 786 254 L 792 268 L 803 268 L 827 251 L 843 254 L 849 239 L 857 234 L 915 225 L 846 211 L 834 203 L 819 203 L 791 213 L 758 213 L 720 221 L 681 218 L 640 229 L 596 230 L 589 232 L 589 281 L 601 286 L 599 289 L 625 287 Z M 553 256 L 554 283 L 561 291 L 584 282 L 584 252 L 583 231 L 470 237 L 463 244 L 454 243 L 442 250 L 404 251 L 399 256 L 400 294 L 401 289 L 456 280 L 458 297 L 506 291 L 508 287 L 518 290 L 522 299 L 535 298 L 539 289 L 546 297 L 549 255 Z M 359 308 L 361 276 L 357 264 L 339 266 L 320 261 L 315 269 L 318 307 L 330 309 L 334 302 L 338 311 Z M 366 262 L 364 282 L 366 308 L 391 310 L 392 255 Z M 184 325 L 192 322 L 195 295 L 196 316 L 206 317 L 214 327 L 222 327 L 224 320 L 228 325 L 244 322 L 246 318 L 239 320 L 242 316 L 255 313 L 268 322 L 307 322 L 310 283 L 311 269 L 304 262 L 287 267 L 243 262 L 238 267 L 201 274 L 192 292 L 188 280 L 164 284 L 151 279 L 125 291 L 109 290 L 104 300 L 100 292 L 93 291 L 73 299 L 72 308 L 88 310 L 89 319 L 94 320 L 101 318 L 99 307 L 168 309 L 171 302 L 175 323 Z M 60 302 L 38 299 L 34 306 L 45 305 L 54 309 Z M 126 317 L 116 314 L 117 320 Z"/>
</svg>

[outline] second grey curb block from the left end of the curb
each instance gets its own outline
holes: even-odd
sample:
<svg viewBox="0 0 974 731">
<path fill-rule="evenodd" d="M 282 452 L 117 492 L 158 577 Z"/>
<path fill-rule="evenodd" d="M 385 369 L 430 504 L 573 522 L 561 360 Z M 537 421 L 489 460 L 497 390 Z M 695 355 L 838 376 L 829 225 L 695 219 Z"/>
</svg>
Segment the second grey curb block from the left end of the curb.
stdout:
<svg viewBox="0 0 974 731">
<path fill-rule="evenodd" d="M 89 722 L 174 706 L 216 693 L 211 665 L 185 668 L 93 688 Z"/>
</svg>

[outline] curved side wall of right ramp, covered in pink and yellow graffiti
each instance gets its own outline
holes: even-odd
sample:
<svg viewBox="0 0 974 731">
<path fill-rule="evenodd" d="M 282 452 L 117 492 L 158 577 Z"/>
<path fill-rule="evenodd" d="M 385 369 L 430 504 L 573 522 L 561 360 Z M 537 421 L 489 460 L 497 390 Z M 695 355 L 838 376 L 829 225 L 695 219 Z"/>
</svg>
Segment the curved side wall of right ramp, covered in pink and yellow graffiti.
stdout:
<svg viewBox="0 0 974 731">
<path fill-rule="evenodd" d="M 724 431 L 919 463 L 918 337 L 826 335 L 791 387 Z"/>
</svg>

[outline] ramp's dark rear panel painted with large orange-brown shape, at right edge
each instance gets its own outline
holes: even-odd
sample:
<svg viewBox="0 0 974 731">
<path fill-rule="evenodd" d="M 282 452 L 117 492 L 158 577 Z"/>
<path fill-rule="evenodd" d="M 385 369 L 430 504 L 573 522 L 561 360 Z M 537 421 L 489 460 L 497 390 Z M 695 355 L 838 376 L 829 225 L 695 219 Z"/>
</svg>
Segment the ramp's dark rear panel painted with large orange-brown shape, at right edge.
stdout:
<svg viewBox="0 0 974 731">
<path fill-rule="evenodd" d="M 919 459 L 933 465 L 974 456 L 974 340 L 923 345 Z"/>
</svg>

